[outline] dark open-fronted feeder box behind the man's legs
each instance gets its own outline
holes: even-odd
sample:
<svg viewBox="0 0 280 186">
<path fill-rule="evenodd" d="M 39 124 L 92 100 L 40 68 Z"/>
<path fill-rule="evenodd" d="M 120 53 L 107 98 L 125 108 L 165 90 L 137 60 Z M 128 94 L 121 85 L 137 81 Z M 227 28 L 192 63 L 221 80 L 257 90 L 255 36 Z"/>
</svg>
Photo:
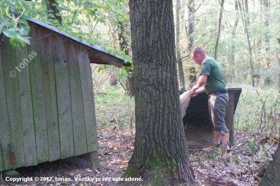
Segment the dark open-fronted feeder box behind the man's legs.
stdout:
<svg viewBox="0 0 280 186">
<path fill-rule="evenodd" d="M 228 88 L 229 102 L 226 109 L 226 126 L 230 130 L 230 146 L 234 141 L 234 113 L 242 88 Z M 185 91 L 180 91 L 182 94 Z M 207 94 L 190 98 L 183 118 L 189 148 L 207 147 L 213 142 L 212 124 L 209 119 Z"/>
</svg>

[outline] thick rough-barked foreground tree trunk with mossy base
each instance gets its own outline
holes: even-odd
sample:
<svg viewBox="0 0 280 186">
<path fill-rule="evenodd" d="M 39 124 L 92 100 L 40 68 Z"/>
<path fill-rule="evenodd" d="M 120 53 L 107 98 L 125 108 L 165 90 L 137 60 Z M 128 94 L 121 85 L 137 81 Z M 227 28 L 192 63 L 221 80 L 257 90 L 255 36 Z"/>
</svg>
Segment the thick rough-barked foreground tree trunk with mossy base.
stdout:
<svg viewBox="0 0 280 186">
<path fill-rule="evenodd" d="M 124 185 L 194 185 L 179 103 L 172 0 L 130 0 L 135 146 Z"/>
</svg>

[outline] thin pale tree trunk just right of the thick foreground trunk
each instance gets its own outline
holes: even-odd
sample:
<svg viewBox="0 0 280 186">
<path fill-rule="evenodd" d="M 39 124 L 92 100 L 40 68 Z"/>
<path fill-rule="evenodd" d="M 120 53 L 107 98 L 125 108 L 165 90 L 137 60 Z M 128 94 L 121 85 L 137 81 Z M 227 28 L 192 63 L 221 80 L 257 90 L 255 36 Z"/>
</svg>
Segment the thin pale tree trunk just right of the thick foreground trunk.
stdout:
<svg viewBox="0 0 280 186">
<path fill-rule="evenodd" d="M 184 69 L 181 60 L 180 50 L 180 16 L 181 16 L 181 0 L 176 0 L 176 55 L 177 55 L 177 68 L 178 68 L 178 80 L 179 90 L 185 90 L 185 77 Z"/>
</svg>

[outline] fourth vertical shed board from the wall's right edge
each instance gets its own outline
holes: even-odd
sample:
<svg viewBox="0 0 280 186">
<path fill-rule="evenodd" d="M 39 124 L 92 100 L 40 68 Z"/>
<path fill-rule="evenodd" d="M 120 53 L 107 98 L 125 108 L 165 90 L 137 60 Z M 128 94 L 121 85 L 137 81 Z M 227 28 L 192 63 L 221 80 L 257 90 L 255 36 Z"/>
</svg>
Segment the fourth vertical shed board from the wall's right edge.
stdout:
<svg viewBox="0 0 280 186">
<path fill-rule="evenodd" d="M 38 41 L 43 70 L 43 84 L 45 95 L 46 123 L 48 136 L 49 161 L 60 158 L 59 121 L 57 108 L 57 93 L 55 89 L 55 78 L 52 55 L 52 32 L 39 27 Z M 39 49 L 38 48 L 38 49 Z"/>
</svg>

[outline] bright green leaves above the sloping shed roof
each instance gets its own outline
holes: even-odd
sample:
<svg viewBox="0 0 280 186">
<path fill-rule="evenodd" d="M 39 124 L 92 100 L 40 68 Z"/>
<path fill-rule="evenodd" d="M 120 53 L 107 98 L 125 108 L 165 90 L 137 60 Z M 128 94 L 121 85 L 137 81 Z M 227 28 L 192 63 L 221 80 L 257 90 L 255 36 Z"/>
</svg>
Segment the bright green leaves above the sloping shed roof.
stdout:
<svg viewBox="0 0 280 186">
<path fill-rule="evenodd" d="M 0 33 L 3 32 L 6 37 L 11 38 L 10 42 L 14 46 L 20 48 L 27 43 L 30 43 L 29 26 L 25 19 L 39 19 L 40 21 L 53 26 L 63 32 L 66 32 L 75 37 L 86 40 L 91 44 L 102 46 L 106 51 L 109 51 L 115 55 L 123 57 L 128 62 L 132 63 L 132 60 L 127 57 L 124 52 L 119 52 L 116 48 L 111 47 L 111 41 L 101 41 L 98 35 L 95 35 L 93 30 L 88 30 L 87 26 L 95 21 L 104 25 L 111 25 L 116 27 L 119 21 L 129 22 L 127 1 L 97 1 L 92 2 L 90 0 L 57 0 L 57 4 L 52 6 L 56 7 L 60 13 L 55 15 L 61 16 L 63 19 L 63 25 L 60 25 L 59 21 L 55 18 L 54 12 L 48 10 L 47 1 L 35 0 L 35 1 L 16 1 L 16 0 L 4 0 L 0 2 Z M 7 7 L 10 10 L 21 13 L 23 8 L 24 14 L 18 21 L 18 28 L 22 28 L 23 31 L 8 31 L 8 28 L 13 27 L 13 21 L 6 14 Z M 128 39 L 130 40 L 130 39 Z M 129 75 L 122 74 L 121 76 Z"/>
</svg>

